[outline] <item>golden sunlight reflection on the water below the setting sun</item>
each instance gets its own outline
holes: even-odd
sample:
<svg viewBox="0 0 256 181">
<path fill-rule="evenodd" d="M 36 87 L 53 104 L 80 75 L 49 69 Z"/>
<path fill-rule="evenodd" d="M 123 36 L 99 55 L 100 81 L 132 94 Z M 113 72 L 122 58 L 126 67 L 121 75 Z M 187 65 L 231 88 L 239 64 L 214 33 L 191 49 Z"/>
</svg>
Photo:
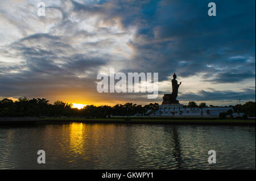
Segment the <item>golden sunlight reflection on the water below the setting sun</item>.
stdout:
<svg viewBox="0 0 256 181">
<path fill-rule="evenodd" d="M 122 151 L 121 145 L 126 145 L 126 127 L 104 124 L 72 123 L 68 125 L 68 147 L 69 155 L 81 160 L 92 160 L 93 164 L 101 162 L 108 167 L 109 164 L 117 164 L 120 159 L 128 159 L 127 151 Z M 108 158 L 106 158 L 108 155 Z M 116 158 L 116 159 L 114 159 Z"/>
</svg>

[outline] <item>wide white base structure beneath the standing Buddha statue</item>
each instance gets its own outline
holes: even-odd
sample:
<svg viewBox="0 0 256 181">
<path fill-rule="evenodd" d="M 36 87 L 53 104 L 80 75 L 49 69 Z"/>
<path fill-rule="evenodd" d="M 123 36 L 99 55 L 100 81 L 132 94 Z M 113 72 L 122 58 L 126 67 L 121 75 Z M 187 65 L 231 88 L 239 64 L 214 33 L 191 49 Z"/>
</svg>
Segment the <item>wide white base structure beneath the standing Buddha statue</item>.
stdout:
<svg viewBox="0 0 256 181">
<path fill-rule="evenodd" d="M 152 112 L 149 117 L 218 117 L 221 112 L 234 111 L 232 107 L 183 108 L 183 106 L 183 104 L 162 104 L 159 105 L 159 110 Z"/>
</svg>

